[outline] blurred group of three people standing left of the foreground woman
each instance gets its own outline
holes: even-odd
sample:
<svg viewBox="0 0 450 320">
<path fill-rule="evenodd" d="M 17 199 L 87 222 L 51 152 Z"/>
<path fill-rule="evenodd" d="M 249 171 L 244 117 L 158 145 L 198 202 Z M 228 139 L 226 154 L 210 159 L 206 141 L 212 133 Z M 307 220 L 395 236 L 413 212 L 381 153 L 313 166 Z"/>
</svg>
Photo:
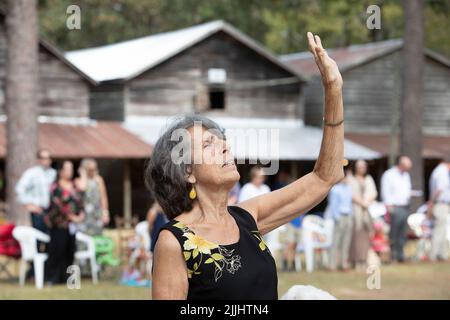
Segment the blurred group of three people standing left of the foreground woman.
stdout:
<svg viewBox="0 0 450 320">
<path fill-rule="evenodd" d="M 31 225 L 50 235 L 49 243 L 38 243 L 48 253 L 45 267 L 47 284 L 66 282 L 67 268 L 77 249 L 75 234 L 101 235 L 109 223 L 105 183 L 94 159 L 83 159 L 74 175 L 71 161 L 52 168 L 51 154 L 41 149 L 37 165 L 26 170 L 16 185 L 18 201 L 30 215 Z M 32 276 L 33 268 L 28 272 Z"/>
</svg>

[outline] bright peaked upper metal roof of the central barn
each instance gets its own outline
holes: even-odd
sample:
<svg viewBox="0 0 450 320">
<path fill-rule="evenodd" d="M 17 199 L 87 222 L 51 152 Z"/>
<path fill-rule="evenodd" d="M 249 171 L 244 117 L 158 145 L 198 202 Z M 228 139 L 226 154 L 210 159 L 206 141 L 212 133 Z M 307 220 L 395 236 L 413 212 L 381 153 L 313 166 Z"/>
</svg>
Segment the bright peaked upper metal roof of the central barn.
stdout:
<svg viewBox="0 0 450 320">
<path fill-rule="evenodd" d="M 267 48 L 222 20 L 115 44 L 70 51 L 66 53 L 66 57 L 96 81 L 126 81 L 219 31 L 227 33 L 301 81 L 305 80 Z"/>
</svg>

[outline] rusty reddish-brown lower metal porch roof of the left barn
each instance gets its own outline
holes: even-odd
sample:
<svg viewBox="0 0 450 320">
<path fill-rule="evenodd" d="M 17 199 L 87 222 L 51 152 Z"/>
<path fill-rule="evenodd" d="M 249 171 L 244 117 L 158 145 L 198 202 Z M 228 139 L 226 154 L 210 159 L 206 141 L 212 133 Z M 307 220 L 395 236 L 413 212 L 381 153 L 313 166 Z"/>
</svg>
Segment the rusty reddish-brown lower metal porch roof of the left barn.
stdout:
<svg viewBox="0 0 450 320">
<path fill-rule="evenodd" d="M 39 124 L 39 145 L 54 158 L 149 158 L 151 145 L 117 122 L 91 122 L 87 125 Z M 0 123 L 0 157 L 6 155 L 6 127 Z"/>
</svg>

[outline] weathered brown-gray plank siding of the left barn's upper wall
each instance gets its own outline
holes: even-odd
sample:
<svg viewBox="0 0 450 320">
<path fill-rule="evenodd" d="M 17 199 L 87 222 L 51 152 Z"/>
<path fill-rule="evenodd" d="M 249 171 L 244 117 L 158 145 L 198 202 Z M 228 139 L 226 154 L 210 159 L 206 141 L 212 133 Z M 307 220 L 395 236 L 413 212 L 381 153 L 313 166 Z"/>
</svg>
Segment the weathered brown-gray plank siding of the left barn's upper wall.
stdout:
<svg viewBox="0 0 450 320">
<path fill-rule="evenodd" d="M 39 114 L 59 117 L 88 117 L 88 82 L 44 47 L 40 46 L 39 50 Z M 0 21 L 0 114 L 4 114 L 6 58 L 5 26 L 3 21 Z"/>
</svg>

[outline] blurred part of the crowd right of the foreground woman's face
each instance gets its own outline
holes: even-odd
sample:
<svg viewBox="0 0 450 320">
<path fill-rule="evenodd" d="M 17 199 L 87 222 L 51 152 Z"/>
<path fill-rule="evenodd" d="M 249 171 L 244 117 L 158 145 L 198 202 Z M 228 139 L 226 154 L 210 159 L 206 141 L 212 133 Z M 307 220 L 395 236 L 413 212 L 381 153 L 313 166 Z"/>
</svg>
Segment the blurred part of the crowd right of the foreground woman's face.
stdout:
<svg viewBox="0 0 450 320">
<path fill-rule="evenodd" d="M 422 236 L 428 237 L 430 243 L 428 252 L 421 258 L 431 261 L 448 259 L 450 159 L 443 159 L 433 170 L 429 180 L 430 197 L 416 212 L 412 211 L 411 198 L 420 193 L 412 189 L 409 173 L 412 165 L 408 157 L 398 157 L 396 164 L 383 173 L 380 190 L 377 190 L 373 177 L 368 174 L 367 162 L 355 161 L 346 168 L 345 178 L 331 188 L 325 211 L 306 213 L 333 221 L 327 269 L 365 270 L 371 253 L 376 254 L 381 263 L 404 262 L 410 230 L 408 217 L 416 212 L 423 215 Z M 293 181 L 287 172 L 281 171 L 269 188 L 265 184 L 263 168 L 258 166 L 250 170 L 249 179 L 242 187 L 236 184 L 233 188 L 230 205 L 282 188 Z M 276 234 L 275 242 L 282 246 L 282 270 L 295 270 L 295 256 L 303 239 L 303 218 L 304 215 L 294 219 L 281 227 L 280 232 L 271 232 Z M 265 238 L 273 241 L 271 233 Z M 318 234 L 314 241 L 326 241 L 323 237 Z"/>
</svg>

